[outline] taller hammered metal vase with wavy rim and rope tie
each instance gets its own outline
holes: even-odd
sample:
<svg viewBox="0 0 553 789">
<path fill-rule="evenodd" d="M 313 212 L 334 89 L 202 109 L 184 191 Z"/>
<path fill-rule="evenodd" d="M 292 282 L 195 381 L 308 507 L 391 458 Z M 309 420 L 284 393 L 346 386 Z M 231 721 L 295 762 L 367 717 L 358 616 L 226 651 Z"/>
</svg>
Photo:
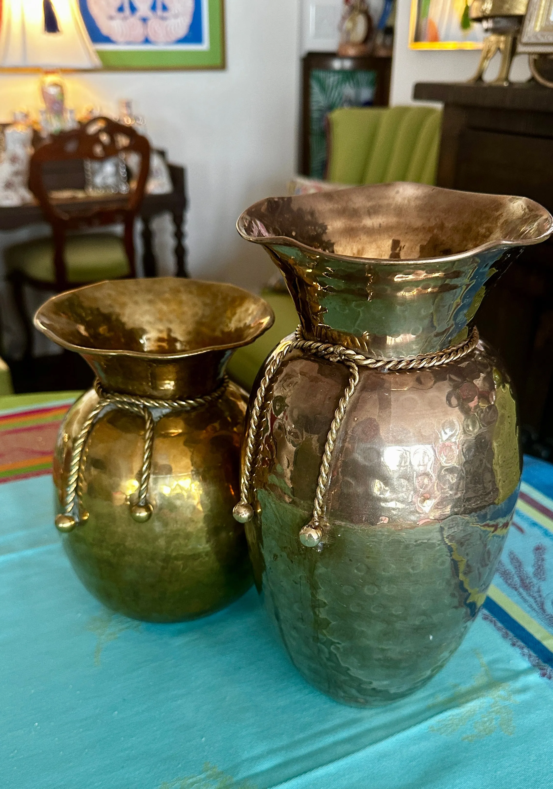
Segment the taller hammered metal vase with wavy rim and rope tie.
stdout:
<svg viewBox="0 0 553 789">
<path fill-rule="evenodd" d="M 394 701 L 458 648 L 506 539 L 517 409 L 473 318 L 553 219 L 397 183 L 263 200 L 237 227 L 301 324 L 250 404 L 234 514 L 256 584 L 305 679 L 346 704 Z"/>
</svg>

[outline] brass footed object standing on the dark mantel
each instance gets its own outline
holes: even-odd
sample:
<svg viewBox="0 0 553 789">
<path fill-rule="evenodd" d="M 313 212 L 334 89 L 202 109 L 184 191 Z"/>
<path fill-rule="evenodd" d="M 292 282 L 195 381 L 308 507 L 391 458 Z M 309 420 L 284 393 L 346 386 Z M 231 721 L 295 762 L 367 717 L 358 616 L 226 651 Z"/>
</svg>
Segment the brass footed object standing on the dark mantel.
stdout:
<svg viewBox="0 0 553 789">
<path fill-rule="evenodd" d="M 484 39 L 476 74 L 469 82 L 481 82 L 491 58 L 499 52 L 499 72 L 491 84 L 509 84 L 510 66 L 527 6 L 528 0 L 473 0 L 469 6 L 469 17 L 473 22 L 481 22 L 484 32 L 490 35 Z"/>
</svg>

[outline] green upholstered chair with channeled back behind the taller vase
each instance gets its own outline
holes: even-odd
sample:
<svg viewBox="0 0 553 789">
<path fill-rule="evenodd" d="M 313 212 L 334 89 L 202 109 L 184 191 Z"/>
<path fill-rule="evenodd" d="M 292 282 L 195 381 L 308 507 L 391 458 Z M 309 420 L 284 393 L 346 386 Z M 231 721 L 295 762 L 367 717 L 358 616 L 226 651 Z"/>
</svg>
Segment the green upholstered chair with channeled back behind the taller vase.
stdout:
<svg viewBox="0 0 553 789">
<path fill-rule="evenodd" d="M 442 113 L 432 107 L 347 107 L 328 115 L 327 181 L 340 185 L 415 181 L 435 184 Z M 320 186 L 320 185 L 319 185 Z M 316 191 L 316 189 L 313 189 Z M 234 353 L 229 372 L 252 387 L 267 353 L 297 327 L 287 294 L 263 290 L 275 323 L 251 346 Z"/>
</svg>

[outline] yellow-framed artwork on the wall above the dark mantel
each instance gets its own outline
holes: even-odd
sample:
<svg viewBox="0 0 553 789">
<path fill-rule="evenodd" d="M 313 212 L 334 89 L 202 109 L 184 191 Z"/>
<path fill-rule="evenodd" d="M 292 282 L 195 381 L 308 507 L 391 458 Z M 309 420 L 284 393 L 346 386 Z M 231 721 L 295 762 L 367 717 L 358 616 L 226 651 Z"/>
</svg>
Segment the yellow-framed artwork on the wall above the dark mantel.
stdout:
<svg viewBox="0 0 553 789">
<path fill-rule="evenodd" d="M 409 49 L 482 49 L 484 30 L 469 19 L 469 0 L 411 0 Z"/>
</svg>

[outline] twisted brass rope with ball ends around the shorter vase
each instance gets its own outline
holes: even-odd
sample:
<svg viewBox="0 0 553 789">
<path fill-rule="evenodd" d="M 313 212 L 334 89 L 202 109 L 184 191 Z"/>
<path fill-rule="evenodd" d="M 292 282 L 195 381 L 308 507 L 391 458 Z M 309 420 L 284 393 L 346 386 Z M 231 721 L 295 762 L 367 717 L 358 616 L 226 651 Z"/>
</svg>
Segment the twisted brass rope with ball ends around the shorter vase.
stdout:
<svg viewBox="0 0 553 789">
<path fill-rule="evenodd" d="M 63 513 L 55 519 L 55 525 L 60 532 L 70 532 L 79 523 L 88 520 L 88 512 L 82 510 L 81 498 L 84 486 L 84 465 L 87 454 L 87 440 L 95 421 L 100 417 L 108 406 L 115 409 L 136 413 L 144 419 L 144 451 L 142 454 L 142 466 L 138 475 L 138 495 L 136 504 L 130 508 L 133 520 L 144 523 L 151 518 L 153 507 L 148 501 L 148 486 L 150 484 L 151 458 L 154 449 L 154 428 L 155 423 L 166 411 L 192 411 L 202 406 L 207 406 L 222 397 L 228 385 L 228 378 L 225 376 L 220 387 L 210 394 L 203 394 L 200 397 L 185 400 L 162 400 L 157 398 L 140 397 L 133 394 L 119 394 L 118 392 L 106 392 L 100 386 L 99 380 L 94 383 L 96 394 L 99 401 L 96 403 L 87 420 L 80 428 L 77 440 L 73 443 L 71 460 L 69 462 L 69 475 L 65 484 L 65 503 Z M 157 419 L 151 413 L 151 409 L 159 409 L 161 414 Z"/>
</svg>

